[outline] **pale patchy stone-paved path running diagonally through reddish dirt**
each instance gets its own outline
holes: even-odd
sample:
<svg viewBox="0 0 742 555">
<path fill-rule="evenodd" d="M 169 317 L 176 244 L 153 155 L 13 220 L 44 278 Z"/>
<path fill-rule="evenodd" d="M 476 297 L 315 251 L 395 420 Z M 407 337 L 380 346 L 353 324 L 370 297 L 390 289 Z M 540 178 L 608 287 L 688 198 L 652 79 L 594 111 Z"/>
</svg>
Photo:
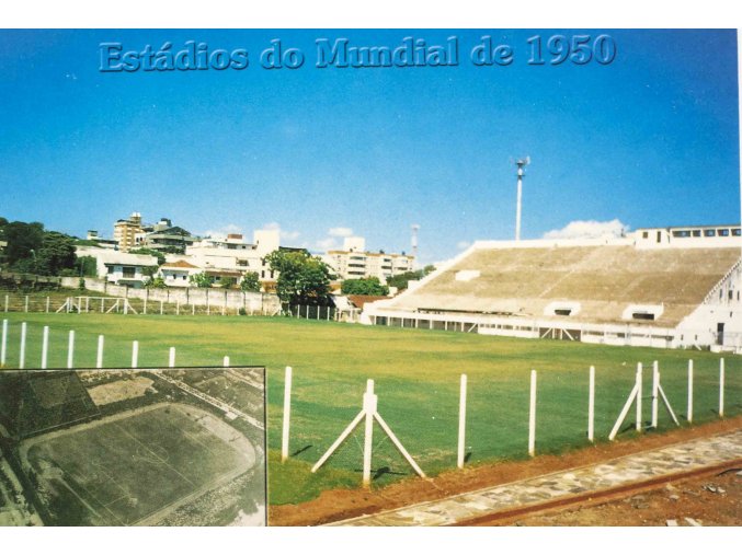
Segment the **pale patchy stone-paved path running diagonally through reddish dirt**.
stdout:
<svg viewBox="0 0 742 555">
<path fill-rule="evenodd" d="M 437 501 L 333 522 L 354 527 L 437 527 L 494 512 L 613 489 L 659 476 L 686 473 L 742 458 L 742 430 L 621 456 L 602 464 L 556 472 L 460 494 Z"/>
</svg>

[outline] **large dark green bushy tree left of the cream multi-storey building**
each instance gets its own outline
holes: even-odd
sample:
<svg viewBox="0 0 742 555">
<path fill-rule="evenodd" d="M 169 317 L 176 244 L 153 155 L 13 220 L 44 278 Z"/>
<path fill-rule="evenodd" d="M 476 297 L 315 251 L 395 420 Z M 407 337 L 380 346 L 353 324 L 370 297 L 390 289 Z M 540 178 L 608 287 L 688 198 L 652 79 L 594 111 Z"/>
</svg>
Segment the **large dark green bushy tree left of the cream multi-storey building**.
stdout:
<svg viewBox="0 0 742 555">
<path fill-rule="evenodd" d="M 326 307 L 330 304 L 330 267 L 306 251 L 273 251 L 265 257 L 278 271 L 276 293 L 288 304 Z"/>
</svg>

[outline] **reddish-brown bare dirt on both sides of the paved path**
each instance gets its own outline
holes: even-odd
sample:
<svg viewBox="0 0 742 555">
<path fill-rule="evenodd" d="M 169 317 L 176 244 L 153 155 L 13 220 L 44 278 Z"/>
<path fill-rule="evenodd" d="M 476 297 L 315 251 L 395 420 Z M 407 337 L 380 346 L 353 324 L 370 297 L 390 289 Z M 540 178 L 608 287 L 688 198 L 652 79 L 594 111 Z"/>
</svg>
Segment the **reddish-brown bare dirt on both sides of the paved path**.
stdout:
<svg viewBox="0 0 742 555">
<path fill-rule="evenodd" d="M 600 444 L 560 456 L 544 455 L 529 461 L 468 467 L 464 471 L 441 474 L 430 481 L 407 479 L 372 492 L 362 489 L 324 492 L 318 499 L 298 506 L 272 506 L 269 522 L 271 525 L 321 524 L 555 471 L 600 463 L 617 456 L 740 428 L 742 428 L 742 417 L 737 417 L 663 435 L 648 433 L 637 440 Z M 671 488 L 685 487 L 690 493 L 678 494 L 663 486 L 659 488 L 659 493 L 657 490 L 643 493 L 639 500 L 636 500 L 636 495 L 627 496 L 636 502 L 614 500 L 591 508 L 571 508 L 557 513 L 549 512 L 548 516 L 523 519 L 516 523 L 526 525 L 665 525 L 666 520 L 680 518 L 678 524 L 688 525 L 683 519 L 690 517 L 709 524 L 739 525 L 742 523 L 740 482 L 742 478 L 735 473 L 718 478 L 694 478 L 687 483 L 687 486 L 671 486 Z M 704 489 L 704 486 L 709 484 L 710 488 Z M 723 493 L 719 492 L 717 485 Z M 680 514 L 678 507 L 687 513 Z"/>
</svg>

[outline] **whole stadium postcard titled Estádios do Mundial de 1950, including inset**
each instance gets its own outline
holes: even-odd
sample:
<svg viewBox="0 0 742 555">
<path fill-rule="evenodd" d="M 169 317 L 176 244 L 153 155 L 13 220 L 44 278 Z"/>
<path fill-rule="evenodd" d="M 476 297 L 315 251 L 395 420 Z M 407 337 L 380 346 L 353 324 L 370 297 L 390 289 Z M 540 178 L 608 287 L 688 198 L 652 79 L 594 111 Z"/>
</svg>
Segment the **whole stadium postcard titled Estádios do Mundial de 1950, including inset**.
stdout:
<svg viewBox="0 0 742 555">
<path fill-rule="evenodd" d="M 0 31 L 0 524 L 739 527 L 733 30 Z"/>
</svg>

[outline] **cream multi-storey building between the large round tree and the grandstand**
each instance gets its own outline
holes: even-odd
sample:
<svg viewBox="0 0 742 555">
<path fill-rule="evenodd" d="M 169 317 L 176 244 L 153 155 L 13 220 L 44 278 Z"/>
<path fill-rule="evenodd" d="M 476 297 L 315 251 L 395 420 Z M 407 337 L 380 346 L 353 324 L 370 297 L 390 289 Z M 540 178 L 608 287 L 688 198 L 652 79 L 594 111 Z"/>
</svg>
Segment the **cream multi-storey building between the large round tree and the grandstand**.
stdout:
<svg viewBox="0 0 742 555">
<path fill-rule="evenodd" d="M 406 271 L 412 271 L 414 257 L 402 254 L 366 251 L 363 238 L 345 238 L 342 251 L 328 251 L 323 261 L 340 279 L 376 277 L 381 284 Z"/>
</svg>

